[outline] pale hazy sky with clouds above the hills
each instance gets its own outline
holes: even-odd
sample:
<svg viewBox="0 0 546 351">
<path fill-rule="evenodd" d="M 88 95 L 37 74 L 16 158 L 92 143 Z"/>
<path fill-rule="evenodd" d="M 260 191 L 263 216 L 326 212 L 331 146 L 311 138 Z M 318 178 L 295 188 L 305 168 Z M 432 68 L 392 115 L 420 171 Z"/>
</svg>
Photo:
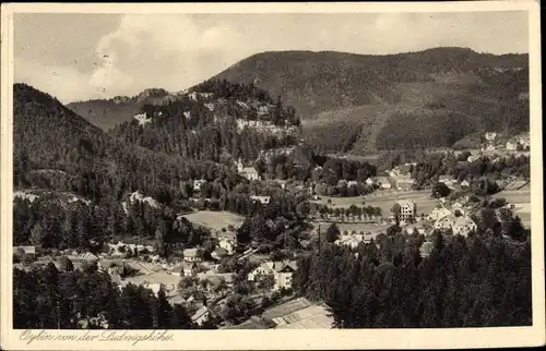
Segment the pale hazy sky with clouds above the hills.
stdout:
<svg viewBox="0 0 546 351">
<path fill-rule="evenodd" d="M 529 52 L 526 12 L 14 15 L 14 78 L 60 101 L 178 92 L 251 55 Z"/>
</svg>

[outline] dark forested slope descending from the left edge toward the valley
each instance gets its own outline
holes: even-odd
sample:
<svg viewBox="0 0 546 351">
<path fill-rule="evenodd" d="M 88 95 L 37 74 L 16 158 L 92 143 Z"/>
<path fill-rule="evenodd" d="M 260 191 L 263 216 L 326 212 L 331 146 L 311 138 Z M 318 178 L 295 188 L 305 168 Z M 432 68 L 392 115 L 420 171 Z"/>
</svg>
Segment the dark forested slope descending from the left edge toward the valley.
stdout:
<svg viewBox="0 0 546 351">
<path fill-rule="evenodd" d="M 226 189 L 244 181 L 232 168 L 213 161 L 153 152 L 108 136 L 24 84 L 14 85 L 13 141 L 15 186 L 51 184 L 96 202 L 109 195 L 120 199 L 136 190 L 173 198 L 179 182 L 189 179 L 217 180 Z M 62 182 L 56 179 L 59 173 Z"/>
</svg>

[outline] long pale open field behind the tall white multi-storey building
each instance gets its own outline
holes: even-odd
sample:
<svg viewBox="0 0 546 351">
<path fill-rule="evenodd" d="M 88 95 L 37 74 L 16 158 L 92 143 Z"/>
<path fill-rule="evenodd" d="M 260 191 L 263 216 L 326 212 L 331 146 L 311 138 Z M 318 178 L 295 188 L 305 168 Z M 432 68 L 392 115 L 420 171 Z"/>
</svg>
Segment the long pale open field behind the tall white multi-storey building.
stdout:
<svg viewBox="0 0 546 351">
<path fill-rule="evenodd" d="M 363 202 L 366 206 L 380 207 L 382 215 L 384 217 L 391 216 L 391 208 L 394 202 L 397 199 L 413 199 L 417 204 L 417 214 L 428 215 L 435 206 L 439 203 L 438 199 L 430 197 L 430 192 L 418 192 L 418 191 L 384 191 L 377 192 L 367 196 L 355 196 L 355 197 L 332 197 L 332 196 L 320 196 L 321 198 L 314 201 L 317 204 L 328 205 L 328 199 L 332 201 L 332 207 L 349 207 L 351 205 L 363 206 Z"/>
</svg>

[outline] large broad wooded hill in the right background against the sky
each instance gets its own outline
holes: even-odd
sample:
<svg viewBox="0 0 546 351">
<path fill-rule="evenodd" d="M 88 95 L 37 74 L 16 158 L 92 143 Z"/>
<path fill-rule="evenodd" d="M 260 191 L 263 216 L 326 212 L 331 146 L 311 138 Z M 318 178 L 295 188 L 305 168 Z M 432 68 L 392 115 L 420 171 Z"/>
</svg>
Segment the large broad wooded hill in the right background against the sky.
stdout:
<svg viewBox="0 0 546 351">
<path fill-rule="evenodd" d="M 263 52 L 216 77 L 280 95 L 321 152 L 451 146 L 472 132 L 529 130 L 527 55 Z"/>
</svg>

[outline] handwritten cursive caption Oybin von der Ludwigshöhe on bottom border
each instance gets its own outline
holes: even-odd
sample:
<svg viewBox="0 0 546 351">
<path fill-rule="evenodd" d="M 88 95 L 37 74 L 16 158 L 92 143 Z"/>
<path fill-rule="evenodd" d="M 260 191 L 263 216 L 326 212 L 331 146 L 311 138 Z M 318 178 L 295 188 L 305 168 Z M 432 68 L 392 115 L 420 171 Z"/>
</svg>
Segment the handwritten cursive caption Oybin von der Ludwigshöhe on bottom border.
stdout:
<svg viewBox="0 0 546 351">
<path fill-rule="evenodd" d="M 21 334 L 20 340 L 31 344 L 34 341 L 75 341 L 75 342 L 131 342 L 135 346 L 142 341 L 171 341 L 174 338 L 173 331 L 169 330 L 151 330 L 151 331 L 130 331 L 130 330 L 87 330 L 85 334 L 76 334 L 70 331 L 49 332 L 44 329 L 31 330 L 26 329 Z"/>
</svg>

